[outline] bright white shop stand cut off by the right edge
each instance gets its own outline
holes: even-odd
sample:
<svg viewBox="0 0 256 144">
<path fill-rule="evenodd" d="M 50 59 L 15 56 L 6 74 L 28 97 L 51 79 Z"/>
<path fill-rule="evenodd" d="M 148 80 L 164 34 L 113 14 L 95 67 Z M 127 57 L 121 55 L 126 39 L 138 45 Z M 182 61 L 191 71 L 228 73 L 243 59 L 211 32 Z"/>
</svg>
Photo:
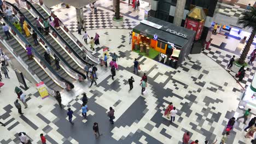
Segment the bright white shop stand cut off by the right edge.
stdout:
<svg viewBox="0 0 256 144">
<path fill-rule="evenodd" d="M 251 112 L 256 114 L 256 77 L 253 76 L 253 81 L 251 86 L 246 88 L 246 91 L 243 93 L 242 100 L 239 104 L 240 109 L 251 109 Z"/>
</svg>

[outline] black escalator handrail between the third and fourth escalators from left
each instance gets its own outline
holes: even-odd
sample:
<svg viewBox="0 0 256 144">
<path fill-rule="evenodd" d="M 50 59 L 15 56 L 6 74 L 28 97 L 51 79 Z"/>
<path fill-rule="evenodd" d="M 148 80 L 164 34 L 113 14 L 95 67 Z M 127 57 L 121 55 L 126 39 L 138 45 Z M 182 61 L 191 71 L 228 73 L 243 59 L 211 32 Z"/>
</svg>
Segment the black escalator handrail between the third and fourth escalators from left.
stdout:
<svg viewBox="0 0 256 144">
<path fill-rule="evenodd" d="M 31 3 L 28 2 L 27 0 L 25 0 L 25 1 L 26 1 L 27 4 L 30 5 L 30 7 L 37 13 L 37 15 L 39 15 L 39 16 L 41 17 L 41 19 L 45 19 L 45 18 L 47 19 L 47 17 L 44 17 L 42 14 L 39 13 L 39 11 L 38 11 L 36 8 L 34 8 L 34 5 L 33 5 L 33 4 L 31 4 Z M 72 53 L 74 53 L 75 57 L 77 57 L 77 58 L 78 58 L 80 61 L 82 61 L 84 64 L 90 64 L 89 62 L 86 62 L 82 57 L 80 57 L 80 56 L 78 55 L 78 53 L 77 53 L 76 51 L 74 51 L 74 50 L 72 49 L 72 47 L 66 42 L 65 39 L 63 39 L 63 38 L 61 37 L 61 35 L 59 34 L 59 32 L 57 32 L 56 29 L 55 29 L 53 26 L 51 26 L 51 25 L 49 25 L 49 26 L 50 26 L 51 30 L 52 30 L 54 33 L 57 34 L 57 37 L 60 38 L 60 40 L 62 41 L 62 43 L 64 43 L 64 44 L 68 47 L 68 49 L 71 50 Z M 91 64 L 90 64 L 90 65 L 91 65 Z"/>
</svg>

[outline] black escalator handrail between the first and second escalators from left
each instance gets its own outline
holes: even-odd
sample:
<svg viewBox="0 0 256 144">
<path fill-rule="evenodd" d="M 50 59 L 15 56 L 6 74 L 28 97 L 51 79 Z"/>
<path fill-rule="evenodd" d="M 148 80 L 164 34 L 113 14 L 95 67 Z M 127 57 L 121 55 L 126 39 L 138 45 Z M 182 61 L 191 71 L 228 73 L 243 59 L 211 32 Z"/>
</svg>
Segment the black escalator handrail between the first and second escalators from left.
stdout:
<svg viewBox="0 0 256 144">
<path fill-rule="evenodd" d="M 8 2 L 8 4 L 9 4 L 9 2 Z M 17 35 L 19 35 L 19 38 L 20 38 L 22 41 L 24 41 L 24 43 L 25 43 L 26 45 L 30 45 L 30 43 L 26 40 L 26 38 L 24 38 L 24 35 L 22 35 L 22 34 L 18 31 L 18 29 L 16 29 L 16 27 L 14 27 L 13 24 L 11 24 L 11 23 L 9 22 L 9 20 L 7 20 L 6 17 L 3 17 L 3 19 L 4 19 L 5 23 L 7 23 L 7 25 L 9 25 L 9 27 L 11 27 L 11 29 L 12 29 Z M 32 46 L 31 46 L 31 47 L 32 47 Z M 61 80 L 62 82 L 67 83 L 67 85 L 69 85 L 69 86 L 71 87 L 71 89 L 74 88 L 73 83 L 69 82 L 68 80 L 64 79 L 64 78 L 61 77 L 59 74 L 57 74 L 56 71 L 51 67 L 51 65 L 49 65 L 49 64 L 45 61 L 45 59 L 39 55 L 39 53 L 37 52 L 36 49 L 34 49 L 34 47 L 32 47 L 32 52 L 33 52 L 34 56 L 38 57 L 38 58 L 40 59 L 40 62 L 43 62 L 43 64 L 50 70 L 50 72 L 51 72 L 52 74 L 54 74 L 54 75 L 57 77 L 57 79 Z"/>
</svg>

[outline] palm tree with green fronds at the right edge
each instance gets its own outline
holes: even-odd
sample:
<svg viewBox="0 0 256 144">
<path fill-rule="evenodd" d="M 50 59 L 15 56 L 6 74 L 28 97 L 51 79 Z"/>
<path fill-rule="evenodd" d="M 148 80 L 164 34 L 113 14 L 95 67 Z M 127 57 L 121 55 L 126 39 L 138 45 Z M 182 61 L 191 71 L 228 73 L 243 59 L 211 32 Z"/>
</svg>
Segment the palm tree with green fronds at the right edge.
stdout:
<svg viewBox="0 0 256 144">
<path fill-rule="evenodd" d="M 242 17 L 239 17 L 237 20 L 237 25 L 241 25 L 243 28 L 252 28 L 252 33 L 245 45 L 245 48 L 243 49 L 242 55 L 238 60 L 239 64 L 245 64 L 246 56 L 256 34 L 256 9 L 252 7 L 250 10 L 243 11 Z"/>
</svg>

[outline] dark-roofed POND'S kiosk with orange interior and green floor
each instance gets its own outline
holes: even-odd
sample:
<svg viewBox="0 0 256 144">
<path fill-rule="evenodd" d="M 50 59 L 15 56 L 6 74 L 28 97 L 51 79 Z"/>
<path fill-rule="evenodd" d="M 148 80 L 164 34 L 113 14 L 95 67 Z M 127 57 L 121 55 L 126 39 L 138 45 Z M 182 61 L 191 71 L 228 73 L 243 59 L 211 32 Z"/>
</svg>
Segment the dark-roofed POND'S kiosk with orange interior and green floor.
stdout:
<svg viewBox="0 0 256 144">
<path fill-rule="evenodd" d="M 195 32 L 149 17 L 132 29 L 132 50 L 177 68 L 188 57 Z"/>
</svg>

